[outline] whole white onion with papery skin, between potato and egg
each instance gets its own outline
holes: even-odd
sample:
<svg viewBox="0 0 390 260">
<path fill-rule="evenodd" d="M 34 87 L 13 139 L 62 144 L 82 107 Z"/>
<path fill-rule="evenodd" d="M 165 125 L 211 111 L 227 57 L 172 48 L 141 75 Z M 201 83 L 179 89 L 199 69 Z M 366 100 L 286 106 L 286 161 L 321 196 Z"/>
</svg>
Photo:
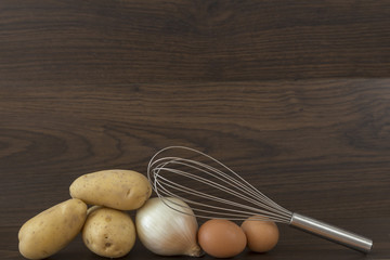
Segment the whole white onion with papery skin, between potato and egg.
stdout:
<svg viewBox="0 0 390 260">
<path fill-rule="evenodd" d="M 188 205 L 179 198 L 166 197 L 164 202 L 159 197 L 148 199 L 136 211 L 135 226 L 141 243 L 154 253 L 202 256 L 202 249 L 196 243 L 196 218 Z"/>
</svg>

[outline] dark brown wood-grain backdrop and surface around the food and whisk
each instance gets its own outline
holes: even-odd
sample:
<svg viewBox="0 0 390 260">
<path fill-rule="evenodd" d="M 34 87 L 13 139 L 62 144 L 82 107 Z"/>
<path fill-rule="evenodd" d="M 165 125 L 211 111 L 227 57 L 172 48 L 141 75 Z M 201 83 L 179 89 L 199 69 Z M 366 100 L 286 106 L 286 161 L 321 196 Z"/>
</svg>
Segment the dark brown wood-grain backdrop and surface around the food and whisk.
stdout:
<svg viewBox="0 0 390 260">
<path fill-rule="evenodd" d="M 390 259 L 389 1 L 0 1 L 1 259 L 75 178 L 145 173 L 168 145 L 375 242 L 280 225 L 236 259 Z M 125 259 L 145 258 L 167 259 Z M 77 237 L 50 259 L 102 258 Z"/>
</svg>

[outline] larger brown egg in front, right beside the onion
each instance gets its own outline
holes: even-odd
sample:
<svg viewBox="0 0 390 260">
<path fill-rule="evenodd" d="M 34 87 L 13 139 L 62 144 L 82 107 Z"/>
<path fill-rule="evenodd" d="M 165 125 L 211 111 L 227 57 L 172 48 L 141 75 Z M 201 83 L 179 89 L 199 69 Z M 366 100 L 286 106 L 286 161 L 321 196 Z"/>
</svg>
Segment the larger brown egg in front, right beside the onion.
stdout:
<svg viewBox="0 0 390 260">
<path fill-rule="evenodd" d="M 230 258 L 246 247 L 244 231 L 229 220 L 212 219 L 198 230 L 198 243 L 202 249 L 216 258 Z"/>
</svg>

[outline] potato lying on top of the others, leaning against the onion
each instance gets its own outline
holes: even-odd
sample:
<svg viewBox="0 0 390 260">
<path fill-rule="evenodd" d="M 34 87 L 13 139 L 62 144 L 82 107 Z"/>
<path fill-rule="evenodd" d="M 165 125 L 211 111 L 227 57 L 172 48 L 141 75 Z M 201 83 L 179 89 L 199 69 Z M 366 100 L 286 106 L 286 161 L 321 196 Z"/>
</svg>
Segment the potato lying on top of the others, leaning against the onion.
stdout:
<svg viewBox="0 0 390 260">
<path fill-rule="evenodd" d="M 131 170 L 103 170 L 77 178 L 69 187 L 70 196 L 90 205 L 119 210 L 140 208 L 151 196 L 147 178 Z"/>
</svg>

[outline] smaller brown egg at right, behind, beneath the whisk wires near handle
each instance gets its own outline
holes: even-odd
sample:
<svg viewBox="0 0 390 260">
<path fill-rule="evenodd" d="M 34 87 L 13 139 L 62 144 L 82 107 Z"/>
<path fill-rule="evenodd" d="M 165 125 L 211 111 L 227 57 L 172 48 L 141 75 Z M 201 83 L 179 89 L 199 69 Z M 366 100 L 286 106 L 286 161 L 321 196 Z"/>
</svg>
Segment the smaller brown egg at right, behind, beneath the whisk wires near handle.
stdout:
<svg viewBox="0 0 390 260">
<path fill-rule="evenodd" d="M 256 252 L 266 252 L 274 248 L 278 240 L 277 225 L 272 221 L 253 220 L 248 218 L 242 229 L 248 239 L 248 248 Z"/>
</svg>

